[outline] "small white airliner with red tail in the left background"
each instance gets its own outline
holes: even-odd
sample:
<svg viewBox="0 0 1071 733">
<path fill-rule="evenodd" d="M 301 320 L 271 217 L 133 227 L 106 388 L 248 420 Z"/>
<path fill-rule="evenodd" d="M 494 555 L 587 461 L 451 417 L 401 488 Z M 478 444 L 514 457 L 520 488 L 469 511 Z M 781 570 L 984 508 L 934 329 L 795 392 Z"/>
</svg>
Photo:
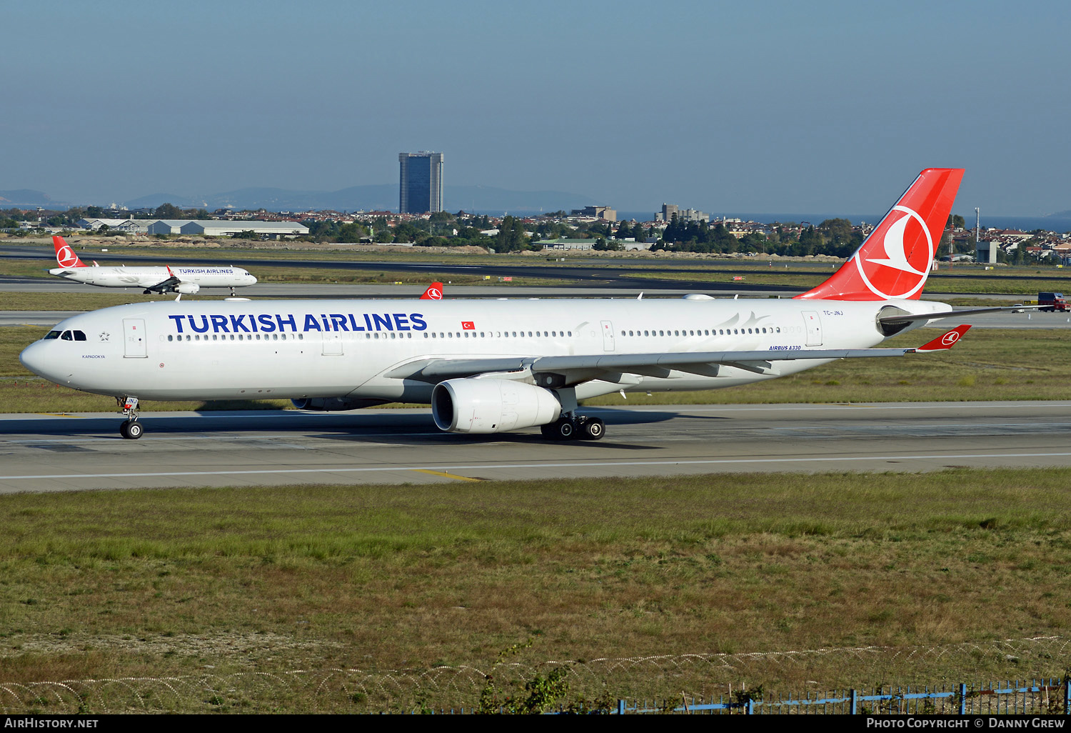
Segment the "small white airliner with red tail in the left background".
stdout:
<svg viewBox="0 0 1071 733">
<path fill-rule="evenodd" d="M 178 293 L 194 295 L 202 287 L 228 287 L 235 295 L 236 287 L 253 285 L 257 279 L 240 267 L 105 267 L 93 263 L 86 265 L 78 258 L 71 245 L 62 237 L 52 237 L 56 248 L 57 268 L 50 274 L 73 280 L 76 283 L 101 287 L 141 287 L 145 295 L 150 293 Z"/>
</svg>

